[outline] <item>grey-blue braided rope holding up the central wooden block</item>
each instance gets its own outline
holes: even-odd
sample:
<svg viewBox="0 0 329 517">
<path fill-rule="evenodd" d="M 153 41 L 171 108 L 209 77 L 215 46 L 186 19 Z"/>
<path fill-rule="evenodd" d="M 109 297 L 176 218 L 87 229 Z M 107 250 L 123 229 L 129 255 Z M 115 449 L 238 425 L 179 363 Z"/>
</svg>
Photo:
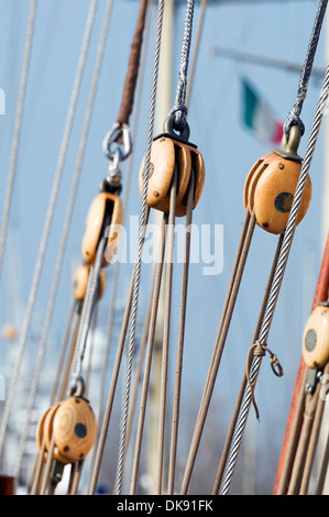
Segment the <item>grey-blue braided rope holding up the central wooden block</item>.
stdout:
<svg viewBox="0 0 329 517">
<path fill-rule="evenodd" d="M 171 114 L 175 113 L 175 128 L 182 131 L 186 125 L 187 107 L 186 102 L 186 90 L 187 90 L 187 68 L 189 59 L 189 50 L 191 42 L 191 28 L 194 16 L 194 0 L 187 0 L 186 16 L 185 16 L 185 29 L 180 54 L 180 66 L 179 66 L 179 78 L 176 89 L 175 105 L 171 109 Z"/>
</svg>

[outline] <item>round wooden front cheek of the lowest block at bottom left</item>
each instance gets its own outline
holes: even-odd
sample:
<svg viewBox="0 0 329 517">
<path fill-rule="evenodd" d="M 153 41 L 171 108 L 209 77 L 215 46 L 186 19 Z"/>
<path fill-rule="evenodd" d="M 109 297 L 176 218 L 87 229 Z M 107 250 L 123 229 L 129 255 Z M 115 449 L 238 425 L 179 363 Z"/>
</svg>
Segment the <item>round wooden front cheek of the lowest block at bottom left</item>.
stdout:
<svg viewBox="0 0 329 517">
<path fill-rule="evenodd" d="M 61 457 L 69 462 L 86 458 L 97 436 L 96 417 L 88 400 L 64 400 L 54 415 L 53 433 Z"/>
</svg>

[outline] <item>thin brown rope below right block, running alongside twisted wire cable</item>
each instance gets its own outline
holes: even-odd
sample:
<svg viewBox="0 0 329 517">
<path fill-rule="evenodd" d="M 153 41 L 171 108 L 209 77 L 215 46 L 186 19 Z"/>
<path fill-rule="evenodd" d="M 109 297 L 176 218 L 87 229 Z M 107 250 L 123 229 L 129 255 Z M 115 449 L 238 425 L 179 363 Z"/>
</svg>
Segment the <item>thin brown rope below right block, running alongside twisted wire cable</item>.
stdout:
<svg viewBox="0 0 329 517">
<path fill-rule="evenodd" d="M 265 308 L 266 308 L 267 299 L 268 299 L 268 296 L 270 296 L 271 285 L 272 285 L 273 277 L 274 277 L 275 266 L 276 266 L 279 250 L 281 250 L 281 246 L 282 246 L 282 241 L 283 241 L 283 235 L 279 235 L 276 252 L 275 252 L 273 264 L 272 264 L 272 270 L 271 270 L 271 273 L 270 273 L 270 276 L 268 276 L 267 286 L 266 286 L 263 302 L 262 302 L 262 308 L 261 308 L 261 311 L 260 311 L 260 317 L 259 317 L 256 328 L 255 328 L 255 332 L 254 332 L 254 336 L 253 336 L 253 343 L 255 343 L 256 340 L 259 339 L 259 334 L 260 334 L 260 331 L 261 331 L 262 319 L 263 319 L 264 314 L 265 314 Z M 227 439 L 226 439 L 224 447 L 223 447 L 223 450 L 222 450 L 220 464 L 219 464 L 219 468 L 218 468 L 218 471 L 217 471 L 217 476 L 216 476 L 216 481 L 215 481 L 215 485 L 213 485 L 213 490 L 212 490 L 212 494 L 215 494 L 215 495 L 218 494 L 218 491 L 219 491 L 219 487 L 220 487 L 220 484 L 221 484 L 223 470 L 224 470 L 224 465 L 226 465 L 228 454 L 229 454 L 229 451 L 230 451 L 231 442 L 232 442 L 232 439 L 233 439 L 234 428 L 237 426 L 237 420 L 238 420 L 239 410 L 240 410 L 240 407 L 241 407 L 241 404 L 242 404 L 242 400 L 243 400 L 243 393 L 244 393 L 245 386 L 246 386 L 246 376 L 244 374 L 241 386 L 240 386 L 240 389 L 239 389 L 238 399 L 237 399 L 237 404 L 235 404 L 235 407 L 234 407 L 234 410 L 233 410 L 233 415 L 232 415 L 231 424 L 230 424 L 230 427 L 229 427 L 229 431 L 227 433 Z"/>
</svg>

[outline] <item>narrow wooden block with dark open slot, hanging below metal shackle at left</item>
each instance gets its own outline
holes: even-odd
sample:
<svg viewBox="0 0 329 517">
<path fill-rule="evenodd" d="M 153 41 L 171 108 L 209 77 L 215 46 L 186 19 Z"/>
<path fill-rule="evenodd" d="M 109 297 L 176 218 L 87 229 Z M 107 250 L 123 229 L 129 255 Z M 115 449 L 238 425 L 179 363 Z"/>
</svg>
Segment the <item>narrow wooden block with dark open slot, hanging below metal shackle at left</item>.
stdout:
<svg viewBox="0 0 329 517">
<path fill-rule="evenodd" d="M 110 221 L 106 223 L 106 221 Z M 112 255 L 116 251 L 116 241 L 123 221 L 122 201 L 119 196 L 110 193 L 99 193 L 92 200 L 83 238 L 83 257 L 87 264 L 94 264 L 97 255 L 97 248 L 102 232 L 107 229 L 108 246 L 112 249 Z M 102 261 L 102 267 L 110 263 L 111 256 L 107 254 Z"/>
</svg>

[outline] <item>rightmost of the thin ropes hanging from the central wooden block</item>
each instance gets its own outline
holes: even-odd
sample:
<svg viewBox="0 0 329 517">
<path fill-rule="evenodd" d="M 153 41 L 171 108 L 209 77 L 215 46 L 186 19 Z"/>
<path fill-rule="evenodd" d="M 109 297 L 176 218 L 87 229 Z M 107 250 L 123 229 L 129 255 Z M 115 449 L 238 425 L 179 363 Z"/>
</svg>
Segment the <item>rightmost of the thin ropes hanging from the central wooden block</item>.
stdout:
<svg viewBox="0 0 329 517">
<path fill-rule="evenodd" d="M 178 424 L 179 424 L 180 393 L 182 393 L 182 369 L 183 369 L 183 352 L 184 352 L 184 338 L 185 338 L 185 323 L 186 323 L 187 285 L 188 285 L 189 256 L 190 256 L 191 218 L 193 218 L 191 207 L 193 207 L 194 191 L 195 191 L 195 173 L 193 169 L 190 170 L 190 180 L 189 180 L 188 188 L 189 190 L 188 190 L 188 196 L 187 196 L 185 250 L 184 250 L 184 264 L 183 264 L 183 276 L 182 276 L 180 310 L 179 310 L 177 355 L 176 355 L 176 375 L 175 375 L 174 407 L 173 407 L 173 418 L 172 418 L 172 438 L 171 438 L 169 469 L 168 469 L 167 493 L 169 495 L 174 494 L 176 460 L 177 460 Z"/>
</svg>

